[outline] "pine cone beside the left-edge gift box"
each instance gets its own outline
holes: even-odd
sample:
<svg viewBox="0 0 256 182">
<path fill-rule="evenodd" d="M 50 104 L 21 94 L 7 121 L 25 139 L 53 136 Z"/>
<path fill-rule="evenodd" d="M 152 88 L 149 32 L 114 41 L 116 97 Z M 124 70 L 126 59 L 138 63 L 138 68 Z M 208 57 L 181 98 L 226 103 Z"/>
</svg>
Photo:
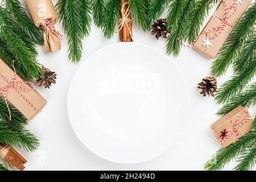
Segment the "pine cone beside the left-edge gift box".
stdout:
<svg viewBox="0 0 256 182">
<path fill-rule="evenodd" d="M 39 86 L 44 86 L 44 88 L 50 88 L 52 84 L 56 83 L 56 73 L 52 72 L 50 69 L 44 67 L 42 65 L 43 73 L 44 75 L 40 77 L 38 80 L 36 80 L 36 83 L 39 84 Z"/>
</svg>

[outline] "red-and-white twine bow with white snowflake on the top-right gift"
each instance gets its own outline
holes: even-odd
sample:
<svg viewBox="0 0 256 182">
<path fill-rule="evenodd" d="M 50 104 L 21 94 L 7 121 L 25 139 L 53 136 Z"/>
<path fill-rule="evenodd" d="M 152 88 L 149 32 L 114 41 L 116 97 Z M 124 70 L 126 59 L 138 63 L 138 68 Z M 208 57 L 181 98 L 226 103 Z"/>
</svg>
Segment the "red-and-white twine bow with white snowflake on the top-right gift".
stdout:
<svg viewBox="0 0 256 182">
<path fill-rule="evenodd" d="M 212 0 L 210 0 L 212 1 Z M 208 6 L 210 1 L 208 1 L 205 6 Z M 226 0 L 222 0 L 222 2 L 224 3 L 224 14 L 223 14 L 223 18 L 220 18 L 219 16 L 217 15 L 213 15 L 214 17 L 218 18 L 219 20 L 221 20 L 221 24 L 219 26 L 216 26 L 216 27 L 213 27 L 213 28 L 210 28 L 209 30 L 207 31 L 204 31 L 204 32 L 201 32 L 197 38 L 195 39 L 195 41 L 187 46 L 183 43 L 183 41 L 181 39 L 177 39 L 179 40 L 179 42 L 184 46 L 184 47 L 192 47 L 196 44 L 196 42 L 199 40 L 199 38 L 202 36 L 202 35 L 206 35 L 206 39 L 204 39 L 204 43 L 203 45 L 206 46 L 205 50 L 202 52 L 202 53 L 205 53 L 207 51 L 207 49 L 209 48 L 209 46 L 213 46 L 212 42 L 213 42 L 213 39 L 217 38 L 221 33 L 222 31 L 224 31 L 225 27 L 226 26 L 230 26 L 232 28 L 234 28 L 234 26 L 232 24 L 229 24 L 228 20 L 236 13 L 237 11 L 237 0 L 234 0 L 234 3 L 230 6 L 228 6 L 226 4 Z M 233 10 L 233 11 L 232 11 Z M 214 32 L 213 36 L 210 36 L 209 33 L 210 32 Z"/>
</svg>

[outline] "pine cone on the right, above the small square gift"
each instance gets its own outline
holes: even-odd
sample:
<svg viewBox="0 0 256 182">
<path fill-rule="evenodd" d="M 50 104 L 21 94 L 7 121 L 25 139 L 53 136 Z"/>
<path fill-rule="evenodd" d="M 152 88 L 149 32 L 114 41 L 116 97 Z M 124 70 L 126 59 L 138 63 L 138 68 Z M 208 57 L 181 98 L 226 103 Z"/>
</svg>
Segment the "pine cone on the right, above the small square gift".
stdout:
<svg viewBox="0 0 256 182">
<path fill-rule="evenodd" d="M 200 94 L 203 94 L 203 96 L 207 96 L 208 94 L 208 96 L 214 97 L 214 92 L 217 92 L 217 80 L 213 76 L 203 78 L 202 82 L 198 85 L 197 88 L 202 89 Z"/>
</svg>

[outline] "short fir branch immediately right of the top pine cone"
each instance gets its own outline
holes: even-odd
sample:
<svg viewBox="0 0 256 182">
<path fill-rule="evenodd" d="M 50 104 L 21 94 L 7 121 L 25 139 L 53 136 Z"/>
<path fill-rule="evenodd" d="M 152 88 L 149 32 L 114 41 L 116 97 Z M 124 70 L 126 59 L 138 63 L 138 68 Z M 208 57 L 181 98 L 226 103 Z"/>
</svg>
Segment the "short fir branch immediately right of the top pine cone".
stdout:
<svg viewBox="0 0 256 182">
<path fill-rule="evenodd" d="M 181 21 L 184 19 L 180 19 L 183 14 L 183 9 L 185 6 L 185 0 L 170 0 L 168 6 L 168 15 L 166 18 L 166 28 L 167 30 L 178 30 Z"/>
</svg>

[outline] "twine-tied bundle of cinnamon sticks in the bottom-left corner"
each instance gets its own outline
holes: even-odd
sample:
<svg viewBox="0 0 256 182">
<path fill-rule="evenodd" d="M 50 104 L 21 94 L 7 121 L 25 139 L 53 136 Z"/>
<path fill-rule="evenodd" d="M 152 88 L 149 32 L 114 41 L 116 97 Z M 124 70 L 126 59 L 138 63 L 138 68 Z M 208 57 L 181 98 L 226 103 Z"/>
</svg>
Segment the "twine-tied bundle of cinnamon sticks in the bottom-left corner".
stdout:
<svg viewBox="0 0 256 182">
<path fill-rule="evenodd" d="M 10 164 L 10 166 L 19 169 L 20 171 L 24 170 L 24 164 L 27 163 L 27 160 L 23 158 L 13 147 L 5 146 L 0 143 L 1 156 L 4 160 Z"/>
</svg>

